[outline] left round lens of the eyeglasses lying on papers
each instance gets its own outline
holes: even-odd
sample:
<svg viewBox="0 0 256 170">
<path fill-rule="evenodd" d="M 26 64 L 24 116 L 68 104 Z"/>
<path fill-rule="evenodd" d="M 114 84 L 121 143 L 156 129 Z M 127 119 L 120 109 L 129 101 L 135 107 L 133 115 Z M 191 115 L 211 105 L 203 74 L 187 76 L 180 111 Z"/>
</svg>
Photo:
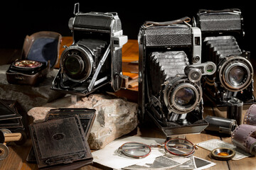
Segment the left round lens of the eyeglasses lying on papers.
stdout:
<svg viewBox="0 0 256 170">
<path fill-rule="evenodd" d="M 141 158 L 150 154 L 151 149 L 148 145 L 139 142 L 124 143 L 119 150 L 128 157 Z"/>
</svg>

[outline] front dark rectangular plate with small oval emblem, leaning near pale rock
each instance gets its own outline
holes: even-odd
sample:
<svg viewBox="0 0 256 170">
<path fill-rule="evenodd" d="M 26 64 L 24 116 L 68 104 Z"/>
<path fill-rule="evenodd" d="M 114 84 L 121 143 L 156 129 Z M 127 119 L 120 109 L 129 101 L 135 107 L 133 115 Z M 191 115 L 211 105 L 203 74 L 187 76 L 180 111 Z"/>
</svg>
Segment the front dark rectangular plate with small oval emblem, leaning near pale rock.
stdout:
<svg viewBox="0 0 256 170">
<path fill-rule="evenodd" d="M 85 161 L 92 154 L 78 115 L 48 120 L 29 126 L 38 168 Z"/>
</svg>

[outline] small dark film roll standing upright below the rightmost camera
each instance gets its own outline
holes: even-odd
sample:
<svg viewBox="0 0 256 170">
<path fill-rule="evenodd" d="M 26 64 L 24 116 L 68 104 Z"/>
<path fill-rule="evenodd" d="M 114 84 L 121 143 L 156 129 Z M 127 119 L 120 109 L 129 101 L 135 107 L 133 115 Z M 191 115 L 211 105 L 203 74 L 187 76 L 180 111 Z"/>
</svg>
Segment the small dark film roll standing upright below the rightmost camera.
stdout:
<svg viewBox="0 0 256 170">
<path fill-rule="evenodd" d="M 238 98 L 231 98 L 227 103 L 227 118 L 235 119 L 238 125 L 242 124 L 242 105 Z"/>
</svg>

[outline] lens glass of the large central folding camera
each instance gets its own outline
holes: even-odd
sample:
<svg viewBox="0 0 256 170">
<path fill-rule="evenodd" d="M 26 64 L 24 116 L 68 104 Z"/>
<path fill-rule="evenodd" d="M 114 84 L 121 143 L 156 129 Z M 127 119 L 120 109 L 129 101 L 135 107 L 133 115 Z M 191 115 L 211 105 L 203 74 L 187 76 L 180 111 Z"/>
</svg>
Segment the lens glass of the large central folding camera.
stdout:
<svg viewBox="0 0 256 170">
<path fill-rule="evenodd" d="M 174 97 L 174 101 L 178 106 L 188 107 L 195 103 L 195 93 L 189 87 L 179 89 Z"/>
</svg>

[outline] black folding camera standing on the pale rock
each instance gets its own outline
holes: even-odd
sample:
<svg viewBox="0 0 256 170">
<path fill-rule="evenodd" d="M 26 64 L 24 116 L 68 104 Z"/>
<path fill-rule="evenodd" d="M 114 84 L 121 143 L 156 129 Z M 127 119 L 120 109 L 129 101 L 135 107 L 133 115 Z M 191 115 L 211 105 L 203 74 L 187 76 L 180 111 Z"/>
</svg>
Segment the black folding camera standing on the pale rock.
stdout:
<svg viewBox="0 0 256 170">
<path fill-rule="evenodd" d="M 106 84 L 118 91 L 122 84 L 122 45 L 127 42 L 117 13 L 80 13 L 75 4 L 68 26 L 73 45 L 60 57 L 52 89 L 90 94 Z"/>
</svg>

